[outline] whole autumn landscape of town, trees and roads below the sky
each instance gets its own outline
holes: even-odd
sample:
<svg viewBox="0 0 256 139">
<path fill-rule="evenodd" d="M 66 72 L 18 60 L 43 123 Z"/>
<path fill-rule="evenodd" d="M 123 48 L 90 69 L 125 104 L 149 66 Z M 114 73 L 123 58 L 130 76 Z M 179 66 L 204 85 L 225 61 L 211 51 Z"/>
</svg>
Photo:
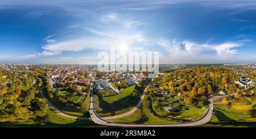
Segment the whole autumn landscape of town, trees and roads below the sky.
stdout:
<svg viewBox="0 0 256 139">
<path fill-rule="evenodd" d="M 166 72 L 155 78 L 96 66 L 1 64 L 1 121 L 89 127 L 255 121 L 256 64 L 160 64 Z"/>
</svg>

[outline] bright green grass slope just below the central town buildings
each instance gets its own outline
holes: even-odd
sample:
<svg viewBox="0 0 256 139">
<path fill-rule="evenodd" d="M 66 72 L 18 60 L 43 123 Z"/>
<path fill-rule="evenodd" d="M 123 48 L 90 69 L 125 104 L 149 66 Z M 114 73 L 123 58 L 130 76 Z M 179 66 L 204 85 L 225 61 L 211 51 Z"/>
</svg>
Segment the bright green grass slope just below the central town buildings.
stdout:
<svg viewBox="0 0 256 139">
<path fill-rule="evenodd" d="M 126 96 L 129 96 L 131 92 L 133 92 L 134 87 L 135 85 L 127 87 L 126 89 L 123 89 L 118 95 L 107 96 L 107 97 L 104 97 L 103 99 L 108 103 L 116 102 L 118 100 L 125 98 Z"/>
</svg>

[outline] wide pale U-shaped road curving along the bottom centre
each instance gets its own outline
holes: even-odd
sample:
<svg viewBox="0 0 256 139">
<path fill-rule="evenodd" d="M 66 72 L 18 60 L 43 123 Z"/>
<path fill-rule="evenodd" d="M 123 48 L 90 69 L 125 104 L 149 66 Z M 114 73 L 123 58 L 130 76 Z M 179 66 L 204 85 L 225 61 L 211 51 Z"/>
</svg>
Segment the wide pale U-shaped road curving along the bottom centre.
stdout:
<svg viewBox="0 0 256 139">
<path fill-rule="evenodd" d="M 142 101 L 142 99 L 141 99 L 141 101 Z M 209 102 L 209 108 L 208 108 L 207 112 L 205 113 L 205 115 L 195 121 L 190 121 L 190 122 L 180 123 L 180 124 L 115 123 L 112 121 L 102 119 L 100 116 L 97 115 L 96 111 L 94 110 L 94 106 L 93 106 L 93 93 L 91 92 L 91 94 L 90 94 L 90 117 L 94 121 L 94 123 L 97 123 L 100 125 L 106 125 L 106 126 L 113 126 L 113 127 L 191 127 L 191 126 L 195 126 L 195 125 L 205 124 L 210 120 L 210 118 L 212 117 L 212 113 L 213 113 L 213 97 L 212 96 L 209 96 L 208 102 Z"/>
</svg>

